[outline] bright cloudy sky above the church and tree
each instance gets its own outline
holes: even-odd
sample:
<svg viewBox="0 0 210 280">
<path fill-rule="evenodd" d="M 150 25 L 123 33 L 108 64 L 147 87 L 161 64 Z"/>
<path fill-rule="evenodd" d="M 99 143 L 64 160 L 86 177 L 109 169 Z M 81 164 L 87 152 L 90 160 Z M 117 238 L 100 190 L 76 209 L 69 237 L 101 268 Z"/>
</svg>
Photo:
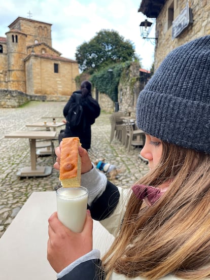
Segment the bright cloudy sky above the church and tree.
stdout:
<svg viewBox="0 0 210 280">
<path fill-rule="evenodd" d="M 8 25 L 17 17 L 28 18 L 30 11 L 31 19 L 52 24 L 52 47 L 66 58 L 75 59 L 79 45 L 88 42 L 101 29 L 109 29 L 130 40 L 142 58 L 142 67 L 150 70 L 154 45 L 141 38 L 139 24 L 146 16 L 137 12 L 140 4 L 141 0 L 3 0 L 0 2 L 0 37 L 6 37 Z M 151 37 L 154 36 L 151 34 Z"/>
</svg>

